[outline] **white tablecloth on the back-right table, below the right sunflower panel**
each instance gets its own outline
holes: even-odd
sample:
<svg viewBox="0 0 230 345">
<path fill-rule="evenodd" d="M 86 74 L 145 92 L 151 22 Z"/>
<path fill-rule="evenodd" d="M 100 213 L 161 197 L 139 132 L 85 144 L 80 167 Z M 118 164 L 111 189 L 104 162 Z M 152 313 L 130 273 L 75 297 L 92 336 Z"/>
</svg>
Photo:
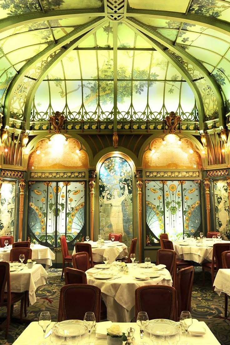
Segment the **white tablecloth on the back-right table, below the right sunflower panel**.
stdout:
<svg viewBox="0 0 230 345">
<path fill-rule="evenodd" d="M 230 241 L 221 241 L 221 243 L 229 243 Z M 182 245 L 181 243 L 187 244 Z M 206 240 L 205 242 L 197 243 L 196 240 L 193 241 L 191 244 L 188 242 L 173 242 L 174 250 L 177 255 L 184 260 L 194 261 L 198 264 L 202 264 L 203 262 L 211 262 L 212 261 L 212 249 L 214 242 L 210 240 Z M 211 246 L 211 247 L 209 247 Z"/>
</svg>

